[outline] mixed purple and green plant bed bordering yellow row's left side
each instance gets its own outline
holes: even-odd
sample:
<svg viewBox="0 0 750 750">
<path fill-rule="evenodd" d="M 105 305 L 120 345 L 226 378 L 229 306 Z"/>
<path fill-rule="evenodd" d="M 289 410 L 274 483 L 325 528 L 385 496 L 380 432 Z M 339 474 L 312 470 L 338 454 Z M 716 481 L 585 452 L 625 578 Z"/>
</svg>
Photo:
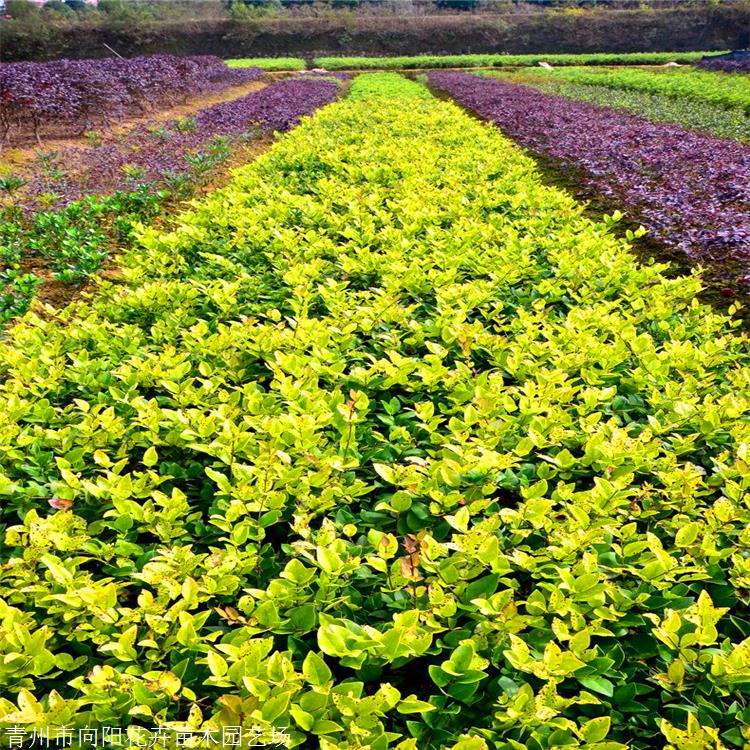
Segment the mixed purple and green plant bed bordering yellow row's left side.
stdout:
<svg viewBox="0 0 750 750">
<path fill-rule="evenodd" d="M 127 244 L 133 228 L 221 182 L 300 117 L 333 101 L 343 81 L 293 77 L 171 120 L 45 149 L 0 176 L 0 322 L 35 296 L 60 304 Z M 8 157 L 12 154 L 7 154 Z M 8 158 L 10 162 L 10 158 Z"/>
</svg>

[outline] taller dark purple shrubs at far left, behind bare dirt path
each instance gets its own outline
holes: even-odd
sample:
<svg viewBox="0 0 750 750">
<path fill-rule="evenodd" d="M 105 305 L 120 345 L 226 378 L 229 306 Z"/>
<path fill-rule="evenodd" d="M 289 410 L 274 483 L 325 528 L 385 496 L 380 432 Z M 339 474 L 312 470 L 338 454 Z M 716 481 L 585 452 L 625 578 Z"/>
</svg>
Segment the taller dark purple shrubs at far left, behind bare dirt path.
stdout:
<svg viewBox="0 0 750 750">
<path fill-rule="evenodd" d="M 210 55 L 7 63 L 0 65 L 0 139 L 14 126 L 37 138 L 53 128 L 82 132 L 261 75 Z"/>
</svg>

